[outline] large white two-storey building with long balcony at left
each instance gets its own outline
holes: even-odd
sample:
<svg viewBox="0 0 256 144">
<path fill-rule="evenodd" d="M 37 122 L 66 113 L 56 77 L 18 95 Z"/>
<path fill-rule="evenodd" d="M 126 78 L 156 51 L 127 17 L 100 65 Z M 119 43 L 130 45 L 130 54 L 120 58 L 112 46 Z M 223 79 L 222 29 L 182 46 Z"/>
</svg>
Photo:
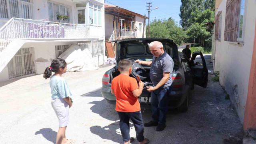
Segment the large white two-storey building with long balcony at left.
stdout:
<svg viewBox="0 0 256 144">
<path fill-rule="evenodd" d="M 0 81 L 42 74 L 72 44 L 104 64 L 104 23 L 104 0 L 1 0 Z"/>
</svg>

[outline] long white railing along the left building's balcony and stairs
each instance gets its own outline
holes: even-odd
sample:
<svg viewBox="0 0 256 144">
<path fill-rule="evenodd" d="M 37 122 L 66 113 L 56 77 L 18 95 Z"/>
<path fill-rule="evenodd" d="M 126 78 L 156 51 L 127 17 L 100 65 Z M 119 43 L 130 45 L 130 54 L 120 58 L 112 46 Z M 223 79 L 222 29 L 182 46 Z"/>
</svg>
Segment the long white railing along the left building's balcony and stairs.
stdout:
<svg viewBox="0 0 256 144">
<path fill-rule="evenodd" d="M 89 36 L 89 26 L 11 18 L 0 28 L 0 52 L 15 39 L 76 39 Z"/>
</svg>

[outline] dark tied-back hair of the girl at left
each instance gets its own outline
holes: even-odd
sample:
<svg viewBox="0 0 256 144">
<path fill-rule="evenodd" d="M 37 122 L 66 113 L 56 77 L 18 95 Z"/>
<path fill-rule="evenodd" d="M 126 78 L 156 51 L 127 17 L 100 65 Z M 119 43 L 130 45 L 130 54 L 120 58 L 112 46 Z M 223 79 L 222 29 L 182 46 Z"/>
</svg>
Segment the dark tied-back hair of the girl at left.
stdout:
<svg viewBox="0 0 256 144">
<path fill-rule="evenodd" d="M 62 58 L 55 58 L 52 60 L 52 64 L 50 67 L 47 67 L 44 71 L 44 78 L 50 78 L 52 76 L 52 72 L 58 72 L 60 68 L 65 68 L 67 63 Z"/>
</svg>

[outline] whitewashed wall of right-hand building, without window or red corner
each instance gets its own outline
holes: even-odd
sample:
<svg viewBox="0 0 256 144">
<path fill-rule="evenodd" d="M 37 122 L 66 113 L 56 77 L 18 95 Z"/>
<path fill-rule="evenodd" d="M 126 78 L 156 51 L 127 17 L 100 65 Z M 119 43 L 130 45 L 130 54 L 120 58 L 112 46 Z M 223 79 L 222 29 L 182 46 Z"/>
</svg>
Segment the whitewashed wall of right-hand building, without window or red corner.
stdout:
<svg viewBox="0 0 256 144">
<path fill-rule="evenodd" d="M 222 32 L 221 41 L 216 41 L 214 71 L 220 72 L 220 84 L 230 95 L 241 123 L 244 120 L 256 17 L 256 1 L 246 0 L 246 2 L 244 44 L 224 41 L 226 0 L 222 0 L 216 10 L 216 14 L 222 10 Z"/>
</svg>

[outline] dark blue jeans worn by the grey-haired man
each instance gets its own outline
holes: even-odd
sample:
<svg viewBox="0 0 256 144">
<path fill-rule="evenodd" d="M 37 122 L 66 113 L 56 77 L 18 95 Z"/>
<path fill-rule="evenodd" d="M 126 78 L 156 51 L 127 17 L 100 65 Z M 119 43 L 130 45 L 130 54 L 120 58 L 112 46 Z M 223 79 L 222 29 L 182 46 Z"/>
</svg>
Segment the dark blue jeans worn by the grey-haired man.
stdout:
<svg viewBox="0 0 256 144">
<path fill-rule="evenodd" d="M 152 119 L 154 122 L 165 124 L 169 102 L 168 97 L 171 90 L 172 86 L 169 86 L 166 88 L 158 88 L 151 92 Z"/>
</svg>

